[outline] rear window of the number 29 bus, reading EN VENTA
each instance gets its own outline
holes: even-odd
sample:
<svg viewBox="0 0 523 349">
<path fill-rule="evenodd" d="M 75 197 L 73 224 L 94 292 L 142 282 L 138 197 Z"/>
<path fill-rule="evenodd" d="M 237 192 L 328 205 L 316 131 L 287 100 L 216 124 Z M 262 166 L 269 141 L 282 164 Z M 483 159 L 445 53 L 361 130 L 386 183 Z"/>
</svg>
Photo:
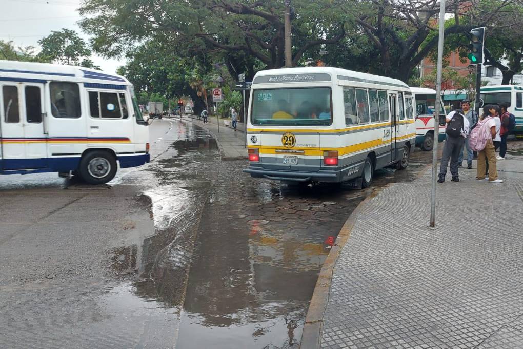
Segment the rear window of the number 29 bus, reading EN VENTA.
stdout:
<svg viewBox="0 0 523 349">
<path fill-rule="evenodd" d="M 256 89 L 251 122 L 253 125 L 279 126 L 331 125 L 331 88 Z"/>
</svg>

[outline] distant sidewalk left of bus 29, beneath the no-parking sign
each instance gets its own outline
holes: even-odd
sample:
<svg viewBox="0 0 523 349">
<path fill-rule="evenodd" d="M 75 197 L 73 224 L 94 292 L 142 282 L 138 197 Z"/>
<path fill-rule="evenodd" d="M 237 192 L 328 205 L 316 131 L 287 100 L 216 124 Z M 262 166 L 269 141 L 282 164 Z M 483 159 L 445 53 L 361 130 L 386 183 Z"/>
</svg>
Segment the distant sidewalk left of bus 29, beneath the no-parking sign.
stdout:
<svg viewBox="0 0 523 349">
<path fill-rule="evenodd" d="M 218 125 L 215 117 L 209 117 L 208 123 L 203 123 L 203 121 L 198 120 L 195 115 L 186 115 L 184 118 L 189 118 L 191 122 L 211 132 L 220 147 L 222 160 L 247 159 L 247 149 L 245 148 L 244 139 L 244 123 L 238 122 L 238 131 L 234 132 L 234 129 L 231 127 L 225 127 L 223 120 L 220 120 L 220 131 L 218 132 Z"/>
</svg>

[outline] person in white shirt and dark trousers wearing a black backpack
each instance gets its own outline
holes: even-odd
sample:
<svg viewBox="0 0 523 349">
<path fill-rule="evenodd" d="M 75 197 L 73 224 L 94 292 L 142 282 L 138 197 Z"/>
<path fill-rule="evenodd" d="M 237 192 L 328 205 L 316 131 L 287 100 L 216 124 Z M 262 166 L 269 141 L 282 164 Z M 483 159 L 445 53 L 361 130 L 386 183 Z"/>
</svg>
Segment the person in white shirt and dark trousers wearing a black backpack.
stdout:
<svg viewBox="0 0 523 349">
<path fill-rule="evenodd" d="M 447 139 L 445 140 L 445 147 L 443 148 L 443 156 L 441 157 L 441 165 L 439 167 L 438 183 L 445 182 L 445 175 L 447 174 L 447 165 L 450 159 L 450 173 L 452 174 L 452 182 L 459 182 L 458 175 L 458 157 L 460 151 L 463 152 L 463 142 L 469 134 L 469 120 L 463 115 L 462 109 L 456 109 L 449 112 L 445 118 L 447 122 Z"/>
</svg>

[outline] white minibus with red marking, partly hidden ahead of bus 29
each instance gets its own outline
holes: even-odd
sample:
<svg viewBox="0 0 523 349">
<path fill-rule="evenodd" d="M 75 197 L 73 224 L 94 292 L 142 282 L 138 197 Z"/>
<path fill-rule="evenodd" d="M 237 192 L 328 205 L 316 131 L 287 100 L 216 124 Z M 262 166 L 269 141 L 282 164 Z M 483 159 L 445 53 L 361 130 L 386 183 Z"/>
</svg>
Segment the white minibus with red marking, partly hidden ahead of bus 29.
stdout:
<svg viewBox="0 0 523 349">
<path fill-rule="evenodd" d="M 431 88 L 411 87 L 416 114 L 416 147 L 432 150 L 434 147 L 434 112 L 436 110 L 436 91 Z M 446 115 L 443 101 L 440 99 L 440 115 Z M 439 126 L 438 141 L 446 138 L 446 126 Z"/>
</svg>

